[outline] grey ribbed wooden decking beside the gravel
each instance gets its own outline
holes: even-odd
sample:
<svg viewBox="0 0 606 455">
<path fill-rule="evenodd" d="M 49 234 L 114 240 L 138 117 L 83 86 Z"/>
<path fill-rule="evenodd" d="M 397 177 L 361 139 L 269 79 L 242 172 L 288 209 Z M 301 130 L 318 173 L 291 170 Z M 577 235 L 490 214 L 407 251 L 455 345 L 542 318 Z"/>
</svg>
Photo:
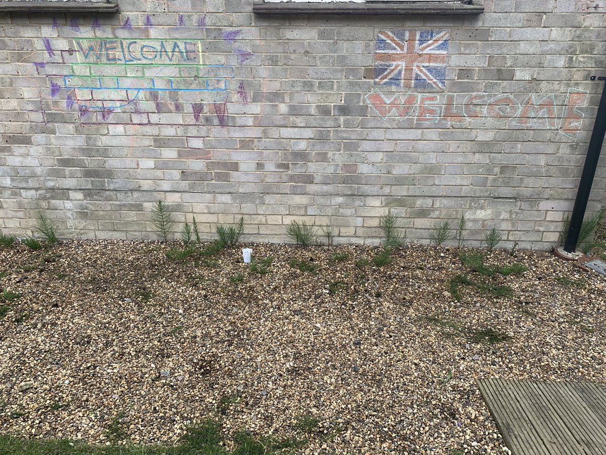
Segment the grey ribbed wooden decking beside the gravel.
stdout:
<svg viewBox="0 0 606 455">
<path fill-rule="evenodd" d="M 606 455 L 606 386 L 481 379 L 478 385 L 513 455 Z"/>
</svg>

